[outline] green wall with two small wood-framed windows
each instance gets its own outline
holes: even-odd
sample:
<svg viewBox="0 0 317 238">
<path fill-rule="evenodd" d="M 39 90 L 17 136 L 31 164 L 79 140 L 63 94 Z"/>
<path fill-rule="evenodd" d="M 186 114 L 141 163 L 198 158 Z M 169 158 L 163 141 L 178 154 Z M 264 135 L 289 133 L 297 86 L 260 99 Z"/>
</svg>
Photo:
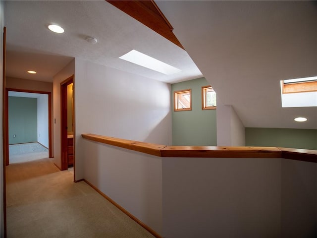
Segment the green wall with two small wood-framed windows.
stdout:
<svg viewBox="0 0 317 238">
<path fill-rule="evenodd" d="M 216 110 L 202 110 L 202 86 L 205 78 L 171 85 L 173 145 L 216 146 Z M 192 111 L 174 112 L 174 91 L 192 89 Z"/>
</svg>

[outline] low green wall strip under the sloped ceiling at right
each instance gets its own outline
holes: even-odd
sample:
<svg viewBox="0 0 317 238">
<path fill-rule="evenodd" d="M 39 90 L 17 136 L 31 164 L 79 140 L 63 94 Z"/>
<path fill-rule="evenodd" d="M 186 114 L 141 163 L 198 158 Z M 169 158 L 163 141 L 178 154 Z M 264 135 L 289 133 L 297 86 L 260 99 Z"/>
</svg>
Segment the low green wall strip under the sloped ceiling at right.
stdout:
<svg viewBox="0 0 317 238">
<path fill-rule="evenodd" d="M 317 150 L 317 130 L 246 127 L 246 146 Z"/>
</svg>

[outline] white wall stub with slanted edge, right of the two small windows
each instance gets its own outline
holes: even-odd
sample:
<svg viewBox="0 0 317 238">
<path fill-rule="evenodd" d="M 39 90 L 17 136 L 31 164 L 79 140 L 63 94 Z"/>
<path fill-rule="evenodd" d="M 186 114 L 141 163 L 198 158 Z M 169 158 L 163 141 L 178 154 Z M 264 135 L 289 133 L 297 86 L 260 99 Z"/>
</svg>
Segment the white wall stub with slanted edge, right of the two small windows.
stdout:
<svg viewBox="0 0 317 238">
<path fill-rule="evenodd" d="M 218 100 L 218 98 L 217 98 Z M 217 146 L 245 146 L 245 127 L 232 105 L 217 101 Z"/>
</svg>

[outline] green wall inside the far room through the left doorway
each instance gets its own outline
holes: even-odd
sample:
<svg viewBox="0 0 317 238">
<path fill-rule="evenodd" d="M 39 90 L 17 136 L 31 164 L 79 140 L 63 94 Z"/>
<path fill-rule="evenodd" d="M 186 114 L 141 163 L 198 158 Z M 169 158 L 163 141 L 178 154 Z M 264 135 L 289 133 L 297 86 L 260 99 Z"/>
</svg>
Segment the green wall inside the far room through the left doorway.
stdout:
<svg viewBox="0 0 317 238">
<path fill-rule="evenodd" d="M 37 98 L 8 97 L 8 121 L 9 144 L 37 141 Z"/>
</svg>

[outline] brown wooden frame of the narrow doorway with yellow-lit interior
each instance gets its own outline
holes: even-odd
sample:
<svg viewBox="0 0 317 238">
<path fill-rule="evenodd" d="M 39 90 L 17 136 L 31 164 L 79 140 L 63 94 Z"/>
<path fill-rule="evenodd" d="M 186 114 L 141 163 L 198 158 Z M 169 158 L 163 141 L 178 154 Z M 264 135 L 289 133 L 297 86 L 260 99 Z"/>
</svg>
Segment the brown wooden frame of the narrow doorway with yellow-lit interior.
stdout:
<svg viewBox="0 0 317 238">
<path fill-rule="evenodd" d="M 68 144 L 67 144 L 67 85 L 74 83 L 74 75 L 60 83 L 60 170 L 68 169 Z M 73 90 L 74 94 L 74 90 Z M 72 109 L 73 110 L 73 109 Z M 74 122 L 73 116 L 73 122 Z M 75 132 L 75 124 L 73 123 Z M 75 141 L 75 138 L 74 138 Z M 75 143 L 74 143 L 75 144 Z M 75 146 L 74 146 L 75 148 Z M 74 153 L 75 166 L 75 153 Z"/>
</svg>

